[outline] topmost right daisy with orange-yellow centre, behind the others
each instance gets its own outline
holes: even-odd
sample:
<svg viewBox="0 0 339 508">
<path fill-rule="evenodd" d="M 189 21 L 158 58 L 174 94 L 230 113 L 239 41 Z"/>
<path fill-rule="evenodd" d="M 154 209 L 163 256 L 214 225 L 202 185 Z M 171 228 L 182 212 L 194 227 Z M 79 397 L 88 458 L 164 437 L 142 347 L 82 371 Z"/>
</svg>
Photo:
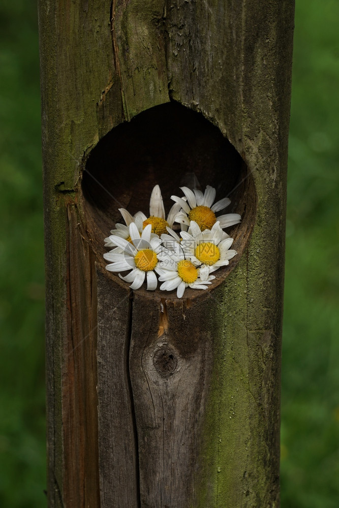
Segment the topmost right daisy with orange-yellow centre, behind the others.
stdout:
<svg viewBox="0 0 339 508">
<path fill-rule="evenodd" d="M 186 199 L 179 198 L 178 196 L 171 196 L 171 199 L 181 207 L 180 212 L 175 217 L 175 222 L 183 225 L 183 230 L 187 230 L 187 226 L 190 226 L 191 220 L 194 220 L 198 224 L 201 231 L 211 229 L 217 220 L 220 223 L 221 229 L 228 228 L 240 222 L 241 216 L 238 213 L 227 213 L 219 217 L 215 215 L 216 212 L 226 208 L 231 200 L 229 198 L 223 198 L 213 205 L 215 199 L 214 187 L 207 185 L 204 194 L 202 194 L 201 190 L 191 190 L 188 187 L 180 188 Z"/>
</svg>

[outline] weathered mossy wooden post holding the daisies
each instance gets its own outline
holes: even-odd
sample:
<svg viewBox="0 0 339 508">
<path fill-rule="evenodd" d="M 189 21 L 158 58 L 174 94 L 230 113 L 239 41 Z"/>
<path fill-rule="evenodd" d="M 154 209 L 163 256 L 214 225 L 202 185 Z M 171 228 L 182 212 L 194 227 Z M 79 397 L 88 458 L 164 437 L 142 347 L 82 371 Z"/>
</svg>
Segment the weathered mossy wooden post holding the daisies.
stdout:
<svg viewBox="0 0 339 508">
<path fill-rule="evenodd" d="M 49 506 L 278 507 L 293 0 L 39 4 Z M 117 208 L 192 173 L 238 255 L 133 293 Z"/>
</svg>

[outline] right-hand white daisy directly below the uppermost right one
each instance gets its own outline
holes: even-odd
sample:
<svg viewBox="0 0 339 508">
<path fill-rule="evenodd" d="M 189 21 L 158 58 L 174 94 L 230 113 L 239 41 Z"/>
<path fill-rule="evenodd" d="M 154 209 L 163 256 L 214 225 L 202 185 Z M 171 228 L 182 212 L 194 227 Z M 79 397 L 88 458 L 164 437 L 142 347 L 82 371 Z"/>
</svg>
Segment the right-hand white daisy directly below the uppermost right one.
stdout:
<svg viewBox="0 0 339 508">
<path fill-rule="evenodd" d="M 192 220 L 191 233 L 181 231 L 181 247 L 188 259 L 200 267 L 200 278 L 205 281 L 211 272 L 221 266 L 229 264 L 229 260 L 236 255 L 236 250 L 229 250 L 233 238 L 223 239 L 223 230 L 217 221 L 210 230 L 201 230 Z"/>
</svg>

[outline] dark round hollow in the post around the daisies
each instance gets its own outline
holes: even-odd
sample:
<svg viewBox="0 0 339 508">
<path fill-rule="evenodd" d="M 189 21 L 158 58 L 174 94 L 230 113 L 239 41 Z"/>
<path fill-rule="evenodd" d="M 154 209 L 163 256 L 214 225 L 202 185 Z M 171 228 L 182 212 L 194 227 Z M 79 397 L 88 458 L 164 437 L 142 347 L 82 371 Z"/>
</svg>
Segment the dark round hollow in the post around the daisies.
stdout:
<svg viewBox="0 0 339 508">
<path fill-rule="evenodd" d="M 231 200 L 217 217 L 241 215 L 240 224 L 225 230 L 234 238 L 232 249 L 237 255 L 227 267 L 213 273 L 215 279 L 208 288 L 212 290 L 236 266 L 251 236 L 257 208 L 251 172 L 217 126 L 201 113 L 174 102 L 148 109 L 104 136 L 84 162 L 83 210 L 98 266 L 126 287 L 117 274 L 105 270 L 103 254 L 108 249 L 104 238 L 116 223 L 124 224 L 118 208 L 126 208 L 132 215 L 141 210 L 148 216 L 156 184 L 160 185 L 166 214 L 173 204 L 171 195 L 183 195 L 180 186 L 204 191 L 211 185 L 217 190 L 215 201 L 226 196 Z M 147 298 L 160 292 L 146 291 L 144 285 L 138 291 Z M 191 300 L 201 293 L 188 288 L 184 298 Z M 166 299 L 176 299 L 176 292 L 166 292 Z"/>
</svg>

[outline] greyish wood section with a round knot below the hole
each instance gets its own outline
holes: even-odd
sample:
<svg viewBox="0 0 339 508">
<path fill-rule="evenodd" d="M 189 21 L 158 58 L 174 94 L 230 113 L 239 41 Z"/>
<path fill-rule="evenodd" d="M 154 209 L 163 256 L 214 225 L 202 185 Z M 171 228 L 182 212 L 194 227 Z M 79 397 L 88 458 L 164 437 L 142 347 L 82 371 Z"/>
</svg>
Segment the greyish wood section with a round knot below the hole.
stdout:
<svg viewBox="0 0 339 508">
<path fill-rule="evenodd" d="M 212 366 L 207 309 L 205 301 L 189 307 L 134 296 L 130 372 L 140 501 L 147 508 L 196 505 L 197 452 Z"/>
</svg>

